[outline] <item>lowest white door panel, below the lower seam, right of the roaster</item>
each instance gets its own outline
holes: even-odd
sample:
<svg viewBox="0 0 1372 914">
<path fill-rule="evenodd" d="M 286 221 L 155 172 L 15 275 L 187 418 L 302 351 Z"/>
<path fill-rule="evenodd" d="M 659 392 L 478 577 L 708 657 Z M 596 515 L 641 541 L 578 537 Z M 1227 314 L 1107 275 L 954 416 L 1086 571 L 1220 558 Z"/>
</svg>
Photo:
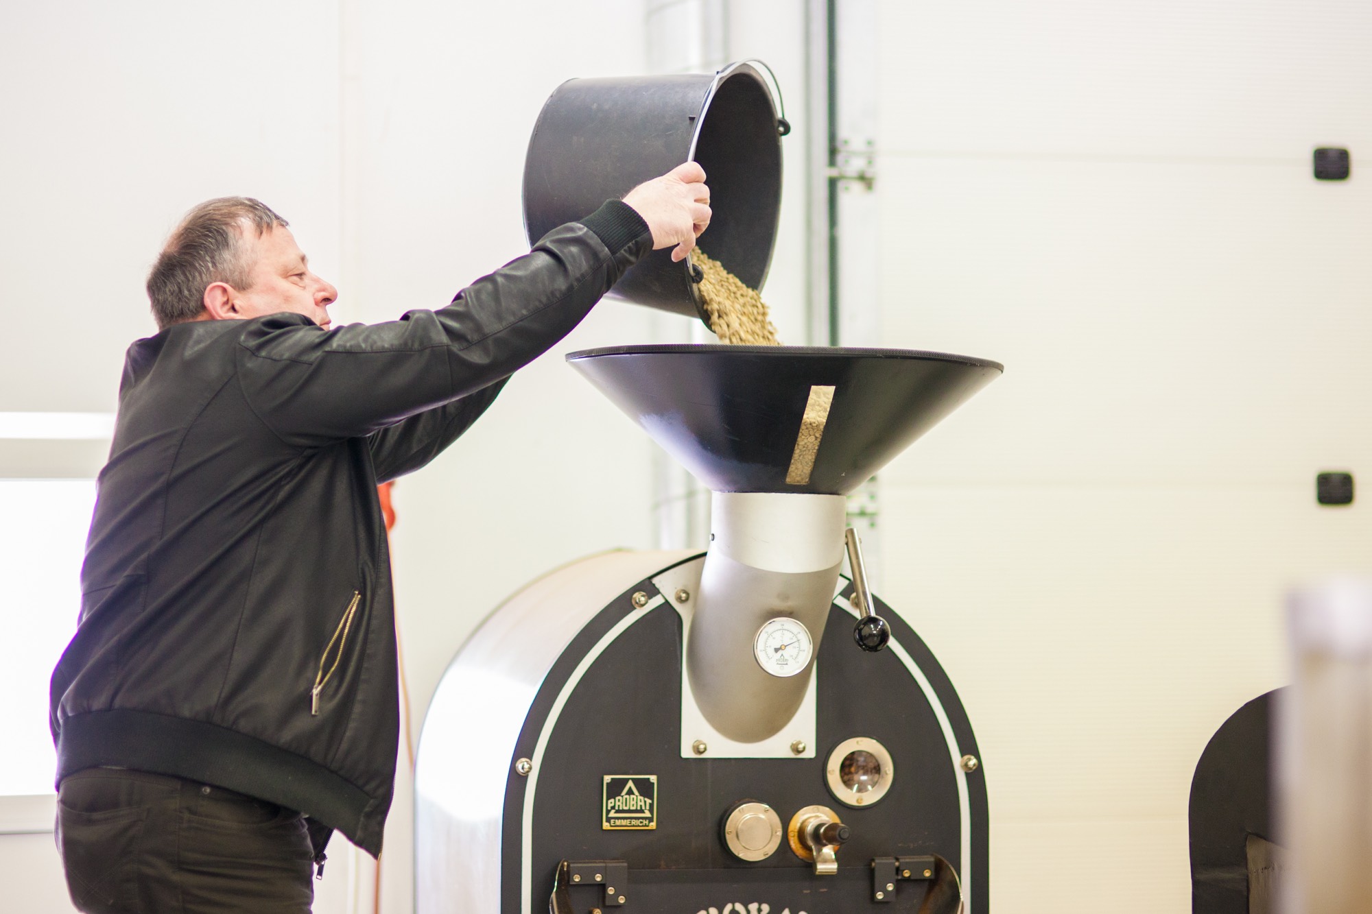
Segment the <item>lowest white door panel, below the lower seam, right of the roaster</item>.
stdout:
<svg viewBox="0 0 1372 914">
<path fill-rule="evenodd" d="M 1118 825 L 1181 819 L 1147 848 L 1184 898 L 1191 775 L 1214 730 L 1283 685 L 1281 600 L 1305 578 L 1372 570 L 1372 516 L 1321 509 L 1305 484 L 888 487 L 886 593 L 958 683 L 977 727 L 997 907 L 1150 911 L 1148 893 L 1039 898 L 1002 863 L 1006 829 L 1096 822 L 1063 859 L 1137 858 L 1089 845 Z M 1056 833 L 1056 832 L 1055 832 Z M 999 836 L 999 837 L 997 837 Z M 999 863 L 997 863 L 999 860 Z M 1183 865 L 1177 865 L 1180 860 Z M 1024 865 L 1019 865 L 1021 867 Z M 1161 898 L 1161 896 L 1154 896 Z"/>
</svg>

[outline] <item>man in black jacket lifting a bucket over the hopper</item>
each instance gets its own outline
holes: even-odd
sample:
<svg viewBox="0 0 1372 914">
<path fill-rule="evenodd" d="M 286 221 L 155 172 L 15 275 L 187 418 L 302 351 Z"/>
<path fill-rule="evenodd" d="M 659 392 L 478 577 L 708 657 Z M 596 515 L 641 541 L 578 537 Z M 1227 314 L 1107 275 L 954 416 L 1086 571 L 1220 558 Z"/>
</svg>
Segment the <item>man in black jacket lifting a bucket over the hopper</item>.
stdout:
<svg viewBox="0 0 1372 914">
<path fill-rule="evenodd" d="M 376 484 L 458 438 L 652 248 L 709 222 L 696 163 L 445 309 L 329 329 L 285 220 L 210 200 L 148 279 L 52 675 L 58 845 L 82 911 L 307 911 L 332 829 L 376 855 L 398 744 Z"/>
</svg>

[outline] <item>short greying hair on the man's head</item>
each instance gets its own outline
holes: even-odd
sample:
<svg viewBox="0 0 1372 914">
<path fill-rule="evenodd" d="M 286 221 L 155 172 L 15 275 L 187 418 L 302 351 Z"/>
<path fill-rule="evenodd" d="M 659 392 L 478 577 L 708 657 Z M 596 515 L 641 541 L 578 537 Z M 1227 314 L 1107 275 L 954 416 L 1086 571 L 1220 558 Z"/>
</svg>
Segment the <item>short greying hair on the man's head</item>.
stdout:
<svg viewBox="0 0 1372 914">
<path fill-rule="evenodd" d="M 187 213 L 148 273 L 158 329 L 199 317 L 211 283 L 247 290 L 252 263 L 244 257 L 244 232 L 252 226 L 261 237 L 277 225 L 289 222 L 251 196 L 215 198 Z"/>
</svg>

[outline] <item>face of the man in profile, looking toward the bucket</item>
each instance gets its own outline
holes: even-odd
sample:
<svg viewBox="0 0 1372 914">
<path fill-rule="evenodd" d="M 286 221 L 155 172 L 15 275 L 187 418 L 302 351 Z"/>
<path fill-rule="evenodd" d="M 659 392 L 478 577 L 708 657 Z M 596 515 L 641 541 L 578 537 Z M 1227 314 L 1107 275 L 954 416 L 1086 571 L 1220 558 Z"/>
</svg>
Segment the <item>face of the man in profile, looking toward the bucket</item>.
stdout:
<svg viewBox="0 0 1372 914">
<path fill-rule="evenodd" d="M 274 225 L 257 235 L 247 229 L 243 236 L 244 257 L 252 263 L 247 290 L 233 291 L 233 306 L 240 318 L 262 317 L 291 312 L 305 314 L 328 329 L 328 306 L 339 292 L 333 285 L 310 272 L 309 258 L 295 243 L 291 229 Z"/>
</svg>

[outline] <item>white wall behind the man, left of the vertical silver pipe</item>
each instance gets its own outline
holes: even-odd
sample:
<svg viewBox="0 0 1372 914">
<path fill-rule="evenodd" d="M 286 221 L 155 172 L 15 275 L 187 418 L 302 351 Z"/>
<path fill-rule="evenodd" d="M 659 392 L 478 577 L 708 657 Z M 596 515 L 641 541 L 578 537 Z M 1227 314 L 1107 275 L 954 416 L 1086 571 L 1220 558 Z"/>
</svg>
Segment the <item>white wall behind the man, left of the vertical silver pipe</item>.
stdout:
<svg viewBox="0 0 1372 914">
<path fill-rule="evenodd" d="M 0 410 L 113 410 L 123 349 L 154 332 L 147 268 L 210 196 L 259 196 L 285 215 L 339 280 L 342 320 L 447 303 L 528 250 L 520 174 L 543 100 L 571 77 L 641 71 L 641 34 L 638 0 L 594 15 L 554 0 L 5 5 Z M 645 339 L 646 321 L 598 309 L 468 439 L 398 484 L 416 738 L 442 668 L 501 597 L 587 552 L 649 545 L 650 445 L 563 364 L 571 349 Z M 0 475 L 59 457 L 67 475 L 100 462 L 89 445 L 7 442 Z M 386 911 L 412 906 L 409 807 L 402 777 Z M 0 882 L 26 911 L 70 910 L 51 848 L 51 834 L 0 836 Z M 316 910 L 370 911 L 369 859 L 342 840 L 332 851 Z"/>
</svg>

